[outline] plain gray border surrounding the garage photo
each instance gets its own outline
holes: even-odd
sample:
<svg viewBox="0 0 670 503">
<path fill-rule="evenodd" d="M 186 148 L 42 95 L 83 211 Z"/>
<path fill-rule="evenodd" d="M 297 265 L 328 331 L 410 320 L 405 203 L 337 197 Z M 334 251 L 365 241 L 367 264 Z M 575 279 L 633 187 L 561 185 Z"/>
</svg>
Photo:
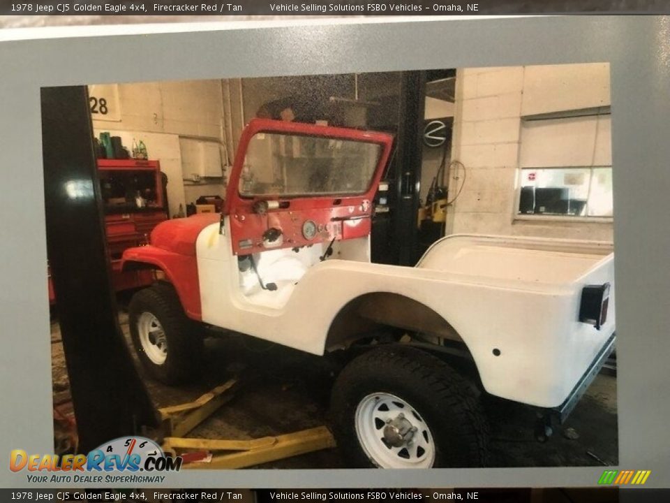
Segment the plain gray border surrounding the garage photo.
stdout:
<svg viewBox="0 0 670 503">
<path fill-rule="evenodd" d="M 6 468 L 11 449 L 52 451 L 41 86 L 595 61 L 609 61 L 612 77 L 620 467 L 652 469 L 647 486 L 669 486 L 670 17 L 210 28 L 0 43 L 1 486 L 28 486 L 24 473 Z M 115 29 L 99 32 L 107 30 Z M 593 486 L 600 474 L 598 467 L 187 471 L 168 474 L 166 485 Z"/>
</svg>

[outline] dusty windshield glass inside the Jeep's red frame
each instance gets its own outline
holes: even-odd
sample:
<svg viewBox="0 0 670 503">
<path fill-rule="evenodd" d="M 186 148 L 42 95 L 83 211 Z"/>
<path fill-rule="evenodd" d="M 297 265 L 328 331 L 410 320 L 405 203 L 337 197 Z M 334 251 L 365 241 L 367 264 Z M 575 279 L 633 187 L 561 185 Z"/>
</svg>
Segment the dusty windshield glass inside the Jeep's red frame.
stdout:
<svg viewBox="0 0 670 503">
<path fill-rule="evenodd" d="M 257 133 L 246 150 L 241 196 L 363 194 L 382 146 L 336 138 Z"/>
</svg>

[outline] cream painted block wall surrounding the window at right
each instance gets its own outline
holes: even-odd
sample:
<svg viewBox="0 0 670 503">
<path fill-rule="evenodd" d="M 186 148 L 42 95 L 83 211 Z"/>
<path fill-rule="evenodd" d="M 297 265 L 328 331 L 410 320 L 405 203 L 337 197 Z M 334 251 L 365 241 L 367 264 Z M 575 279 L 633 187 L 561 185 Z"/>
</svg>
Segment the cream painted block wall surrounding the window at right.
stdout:
<svg viewBox="0 0 670 503">
<path fill-rule="evenodd" d="M 605 106 L 609 96 L 608 64 L 459 69 L 452 159 L 465 175 L 452 169 L 449 198 L 462 191 L 447 233 L 611 240 L 611 221 L 516 217 L 521 117 Z"/>
</svg>

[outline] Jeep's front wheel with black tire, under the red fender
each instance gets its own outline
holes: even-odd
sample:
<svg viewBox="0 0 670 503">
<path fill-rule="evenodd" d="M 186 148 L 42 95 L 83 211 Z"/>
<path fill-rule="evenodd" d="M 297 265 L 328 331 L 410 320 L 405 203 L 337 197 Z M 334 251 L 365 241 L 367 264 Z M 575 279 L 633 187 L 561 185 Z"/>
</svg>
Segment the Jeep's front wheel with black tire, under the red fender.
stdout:
<svg viewBox="0 0 670 503">
<path fill-rule="evenodd" d="M 188 319 L 168 283 L 135 293 L 128 306 L 133 347 L 142 366 L 163 384 L 193 380 L 202 360 L 202 327 Z"/>
</svg>

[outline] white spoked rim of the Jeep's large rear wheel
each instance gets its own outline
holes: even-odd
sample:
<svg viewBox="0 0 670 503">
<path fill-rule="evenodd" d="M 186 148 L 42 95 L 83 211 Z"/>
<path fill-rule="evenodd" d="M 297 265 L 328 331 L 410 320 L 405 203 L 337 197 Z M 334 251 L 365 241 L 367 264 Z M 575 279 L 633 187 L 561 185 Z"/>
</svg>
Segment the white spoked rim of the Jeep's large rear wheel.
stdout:
<svg viewBox="0 0 670 503">
<path fill-rule="evenodd" d="M 387 426 L 411 426 L 412 433 L 389 437 Z M 356 435 L 370 460 L 380 468 L 430 468 L 435 462 L 435 442 L 428 424 L 408 402 L 390 393 L 371 393 L 355 413 Z M 389 438 L 396 445 L 389 444 Z M 401 445 L 398 445 L 402 442 Z"/>
</svg>

